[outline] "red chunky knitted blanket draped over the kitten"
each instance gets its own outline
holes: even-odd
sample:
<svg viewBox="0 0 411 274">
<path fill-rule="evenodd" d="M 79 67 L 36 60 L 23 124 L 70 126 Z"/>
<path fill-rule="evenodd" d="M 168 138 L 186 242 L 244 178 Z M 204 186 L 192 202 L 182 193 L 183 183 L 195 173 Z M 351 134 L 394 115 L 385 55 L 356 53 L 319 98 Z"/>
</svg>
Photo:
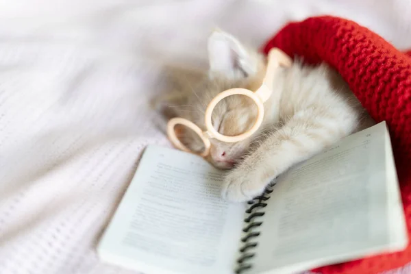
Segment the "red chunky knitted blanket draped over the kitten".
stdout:
<svg viewBox="0 0 411 274">
<path fill-rule="evenodd" d="M 343 18 L 319 16 L 286 25 L 266 42 L 308 63 L 333 66 L 375 121 L 386 121 L 411 231 L 411 51 L 402 53 L 386 40 Z M 380 273 L 411 261 L 411 245 L 402 252 L 321 267 L 314 271 L 344 274 Z"/>
</svg>

